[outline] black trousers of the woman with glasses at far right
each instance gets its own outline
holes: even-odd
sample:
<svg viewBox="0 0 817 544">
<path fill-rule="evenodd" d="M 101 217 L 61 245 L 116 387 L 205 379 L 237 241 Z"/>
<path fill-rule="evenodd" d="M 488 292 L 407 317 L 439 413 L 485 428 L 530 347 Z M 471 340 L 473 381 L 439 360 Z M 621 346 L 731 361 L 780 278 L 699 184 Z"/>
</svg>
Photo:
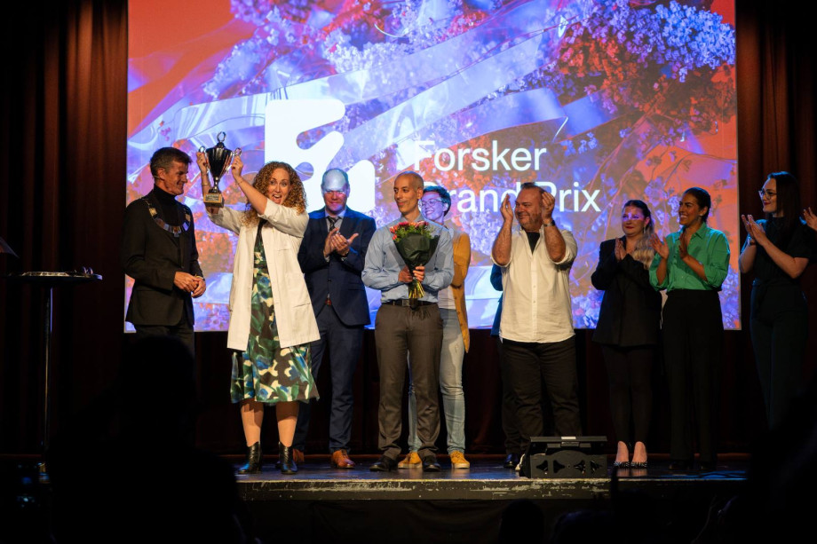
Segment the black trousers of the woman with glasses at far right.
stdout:
<svg viewBox="0 0 817 544">
<path fill-rule="evenodd" d="M 808 305 L 797 285 L 752 288 L 751 336 L 766 421 L 777 427 L 802 384 Z"/>
</svg>

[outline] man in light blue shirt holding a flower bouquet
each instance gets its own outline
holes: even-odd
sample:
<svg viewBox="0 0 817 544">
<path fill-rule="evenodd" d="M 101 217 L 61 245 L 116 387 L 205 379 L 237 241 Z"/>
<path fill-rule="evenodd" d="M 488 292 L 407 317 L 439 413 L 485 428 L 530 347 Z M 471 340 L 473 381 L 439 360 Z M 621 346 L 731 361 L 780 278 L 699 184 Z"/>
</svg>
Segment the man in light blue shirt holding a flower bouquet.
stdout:
<svg viewBox="0 0 817 544">
<path fill-rule="evenodd" d="M 426 471 L 440 470 L 434 443 L 440 433 L 437 400 L 442 319 L 437 292 L 454 277 L 451 233 L 424 219 L 419 209 L 423 178 L 405 171 L 394 180 L 394 202 L 401 217 L 377 229 L 369 243 L 363 283 L 381 292 L 375 319 L 380 372 L 380 459 L 371 470 L 397 468 L 402 426 L 406 359 L 417 406 L 417 450 Z"/>
</svg>

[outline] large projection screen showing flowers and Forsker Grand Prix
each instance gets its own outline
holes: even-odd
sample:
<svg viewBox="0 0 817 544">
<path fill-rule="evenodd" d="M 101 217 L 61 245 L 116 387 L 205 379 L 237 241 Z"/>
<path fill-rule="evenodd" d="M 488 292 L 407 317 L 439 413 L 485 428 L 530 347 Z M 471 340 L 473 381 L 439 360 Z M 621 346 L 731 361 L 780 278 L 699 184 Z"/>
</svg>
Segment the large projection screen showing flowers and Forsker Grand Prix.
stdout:
<svg viewBox="0 0 817 544">
<path fill-rule="evenodd" d="M 150 4 L 190 8 L 132 4 L 128 201 L 150 190 L 156 148 L 192 155 L 222 130 L 245 171 L 296 167 L 310 210 L 323 171 L 347 170 L 350 208 L 378 226 L 399 216 L 394 177 L 416 170 L 451 193 L 447 222 L 472 242 L 469 323 L 490 327 L 499 204 L 535 182 L 579 245 L 575 327 L 595 327 L 590 276 L 599 243 L 622 233 L 623 202 L 646 201 L 666 235 L 697 185 L 730 240 L 724 325 L 741 326 L 732 1 L 205 0 L 188 34 L 161 47 L 141 34 Z M 229 174 L 220 187 L 244 209 Z M 183 198 L 208 279 L 196 328 L 225 330 L 236 240 L 210 224 L 197 177 Z M 373 313 L 378 301 L 370 292 Z"/>
</svg>

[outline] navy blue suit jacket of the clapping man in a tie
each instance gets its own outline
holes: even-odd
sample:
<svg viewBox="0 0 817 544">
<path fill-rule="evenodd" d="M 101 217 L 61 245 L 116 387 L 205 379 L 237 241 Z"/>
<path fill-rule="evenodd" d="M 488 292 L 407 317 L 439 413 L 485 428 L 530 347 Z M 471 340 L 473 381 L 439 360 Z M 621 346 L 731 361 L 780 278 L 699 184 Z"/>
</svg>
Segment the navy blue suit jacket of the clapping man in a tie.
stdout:
<svg viewBox="0 0 817 544">
<path fill-rule="evenodd" d="M 331 253 L 327 262 L 323 257 L 323 244 L 329 234 L 326 210 L 319 209 L 310 213 L 304 240 L 297 253 L 297 262 L 305 274 L 306 288 L 316 316 L 326 306 L 326 296 L 329 295 L 332 307 L 344 325 L 369 325 L 369 303 L 361 272 L 369 240 L 375 233 L 375 220 L 346 208 L 340 223 L 340 233 L 346 238 L 353 233 L 358 233 L 358 236 L 352 240 L 349 255 L 342 259 L 337 253 Z"/>
</svg>

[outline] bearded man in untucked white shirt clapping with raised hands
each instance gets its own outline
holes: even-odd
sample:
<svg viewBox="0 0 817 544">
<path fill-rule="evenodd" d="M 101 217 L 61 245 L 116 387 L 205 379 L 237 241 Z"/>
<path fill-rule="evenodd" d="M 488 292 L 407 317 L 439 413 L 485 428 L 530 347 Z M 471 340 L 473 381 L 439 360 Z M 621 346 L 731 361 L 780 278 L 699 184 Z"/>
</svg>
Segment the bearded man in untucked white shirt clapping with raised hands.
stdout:
<svg viewBox="0 0 817 544">
<path fill-rule="evenodd" d="M 530 438 L 543 432 L 542 382 L 551 398 L 556 433 L 582 434 L 568 290 L 577 248 L 573 234 L 559 231 L 553 221 L 555 203 L 541 187 L 521 185 L 516 199 L 521 228 L 513 233 L 514 213 L 506 195 L 500 209 L 504 223 L 491 254 L 502 268 L 502 364 L 511 382 L 526 450 Z"/>
</svg>

